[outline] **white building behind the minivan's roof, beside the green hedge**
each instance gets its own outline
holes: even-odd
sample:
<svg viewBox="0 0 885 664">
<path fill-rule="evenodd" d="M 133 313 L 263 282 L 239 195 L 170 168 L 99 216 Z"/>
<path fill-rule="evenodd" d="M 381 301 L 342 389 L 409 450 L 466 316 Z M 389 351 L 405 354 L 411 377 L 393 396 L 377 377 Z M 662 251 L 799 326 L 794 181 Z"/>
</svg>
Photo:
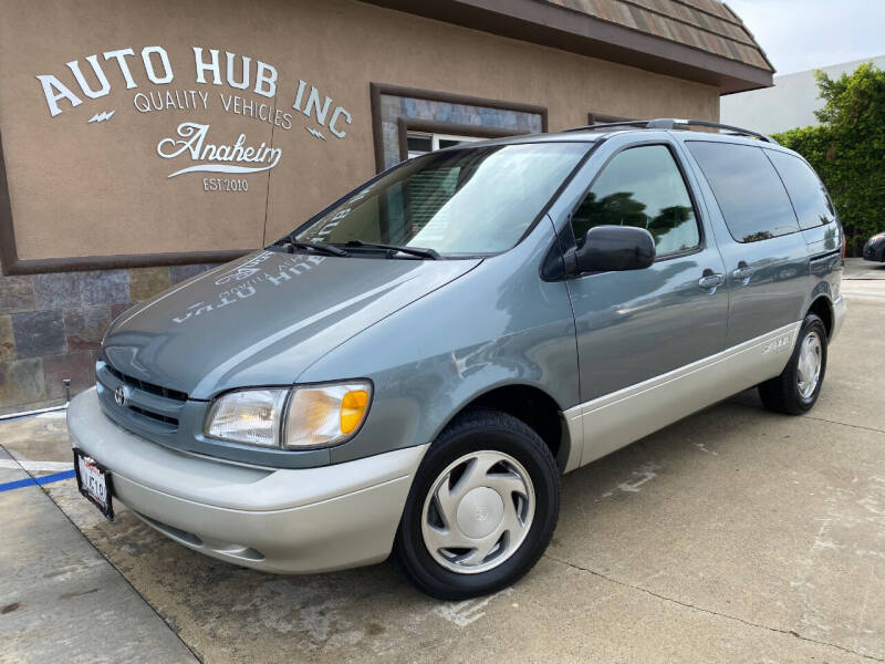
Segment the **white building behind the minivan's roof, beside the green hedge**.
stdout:
<svg viewBox="0 0 885 664">
<path fill-rule="evenodd" d="M 851 73 L 864 62 L 873 61 L 885 69 L 885 55 L 822 66 L 827 76 L 836 79 Z M 774 87 L 728 94 L 719 100 L 719 122 L 746 127 L 763 134 L 777 134 L 795 127 L 818 124 L 814 111 L 823 106 L 818 96 L 814 71 L 774 76 Z"/>
</svg>

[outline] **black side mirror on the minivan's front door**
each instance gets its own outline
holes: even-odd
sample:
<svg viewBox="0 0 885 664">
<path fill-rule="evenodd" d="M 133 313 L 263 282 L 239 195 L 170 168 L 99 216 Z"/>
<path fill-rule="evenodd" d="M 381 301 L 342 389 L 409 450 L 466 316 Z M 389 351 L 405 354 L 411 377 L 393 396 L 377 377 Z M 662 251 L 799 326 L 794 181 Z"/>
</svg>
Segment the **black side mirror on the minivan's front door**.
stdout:
<svg viewBox="0 0 885 664">
<path fill-rule="evenodd" d="M 642 270 L 655 262 L 655 239 L 644 228 L 595 226 L 584 243 L 566 257 L 572 274 Z"/>
</svg>

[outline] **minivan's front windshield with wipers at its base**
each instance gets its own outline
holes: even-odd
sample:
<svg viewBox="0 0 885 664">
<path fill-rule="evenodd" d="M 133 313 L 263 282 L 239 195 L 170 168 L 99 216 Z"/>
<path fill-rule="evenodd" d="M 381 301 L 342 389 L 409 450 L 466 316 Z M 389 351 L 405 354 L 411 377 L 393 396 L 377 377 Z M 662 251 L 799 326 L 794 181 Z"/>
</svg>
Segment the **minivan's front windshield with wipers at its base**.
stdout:
<svg viewBox="0 0 885 664">
<path fill-rule="evenodd" d="M 449 256 L 504 251 L 590 147 L 534 143 L 423 155 L 357 189 L 290 237 L 324 245 L 360 240 L 420 247 Z"/>
</svg>

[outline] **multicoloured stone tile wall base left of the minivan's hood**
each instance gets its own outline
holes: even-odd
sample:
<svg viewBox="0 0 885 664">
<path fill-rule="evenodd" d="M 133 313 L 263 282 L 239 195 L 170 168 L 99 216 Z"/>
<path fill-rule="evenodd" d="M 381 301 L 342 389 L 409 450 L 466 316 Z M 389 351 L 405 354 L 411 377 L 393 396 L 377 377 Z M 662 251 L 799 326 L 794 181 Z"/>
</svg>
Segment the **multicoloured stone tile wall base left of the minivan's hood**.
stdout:
<svg viewBox="0 0 885 664">
<path fill-rule="evenodd" d="M 64 378 L 90 387 L 111 321 L 212 267 L 0 274 L 0 415 L 64 403 Z"/>
</svg>

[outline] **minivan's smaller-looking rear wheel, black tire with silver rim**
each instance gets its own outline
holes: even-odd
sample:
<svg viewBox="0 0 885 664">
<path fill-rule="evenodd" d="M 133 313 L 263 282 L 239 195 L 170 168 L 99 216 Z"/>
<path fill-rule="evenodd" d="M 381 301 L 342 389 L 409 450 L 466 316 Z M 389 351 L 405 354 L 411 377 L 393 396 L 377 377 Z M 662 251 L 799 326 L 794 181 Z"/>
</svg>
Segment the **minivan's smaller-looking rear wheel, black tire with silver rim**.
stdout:
<svg viewBox="0 0 885 664">
<path fill-rule="evenodd" d="M 806 344 L 814 345 L 813 339 L 816 339 L 818 372 L 816 382 L 811 387 L 808 376 L 803 375 L 803 349 Z M 810 341 L 812 340 L 812 341 Z M 808 350 L 806 350 L 808 352 Z M 812 352 L 812 354 L 814 354 Z M 805 373 L 808 367 L 813 365 L 804 365 Z M 784 413 L 787 415 L 802 415 L 808 413 L 818 401 L 821 394 L 821 386 L 823 385 L 824 374 L 826 373 L 826 328 L 823 321 L 815 314 L 809 313 L 802 322 L 802 328 L 799 330 L 799 338 L 793 349 L 793 354 L 790 362 L 787 363 L 783 372 L 775 378 L 766 381 L 759 385 L 759 396 L 762 404 L 775 413 Z M 803 383 L 803 378 L 805 382 Z M 804 387 L 803 387 L 804 385 Z"/>
</svg>

